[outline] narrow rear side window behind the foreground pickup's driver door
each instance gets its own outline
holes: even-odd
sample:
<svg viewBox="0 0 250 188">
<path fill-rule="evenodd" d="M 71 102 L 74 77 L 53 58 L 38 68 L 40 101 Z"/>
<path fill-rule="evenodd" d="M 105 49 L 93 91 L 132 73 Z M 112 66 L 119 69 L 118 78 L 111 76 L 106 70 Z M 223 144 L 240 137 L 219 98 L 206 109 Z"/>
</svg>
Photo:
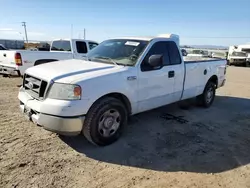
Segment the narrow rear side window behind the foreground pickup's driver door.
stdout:
<svg viewBox="0 0 250 188">
<path fill-rule="evenodd" d="M 178 47 L 176 46 L 176 43 L 173 41 L 167 42 L 167 48 L 170 58 L 171 65 L 178 65 L 181 64 L 181 56 Z"/>
</svg>

